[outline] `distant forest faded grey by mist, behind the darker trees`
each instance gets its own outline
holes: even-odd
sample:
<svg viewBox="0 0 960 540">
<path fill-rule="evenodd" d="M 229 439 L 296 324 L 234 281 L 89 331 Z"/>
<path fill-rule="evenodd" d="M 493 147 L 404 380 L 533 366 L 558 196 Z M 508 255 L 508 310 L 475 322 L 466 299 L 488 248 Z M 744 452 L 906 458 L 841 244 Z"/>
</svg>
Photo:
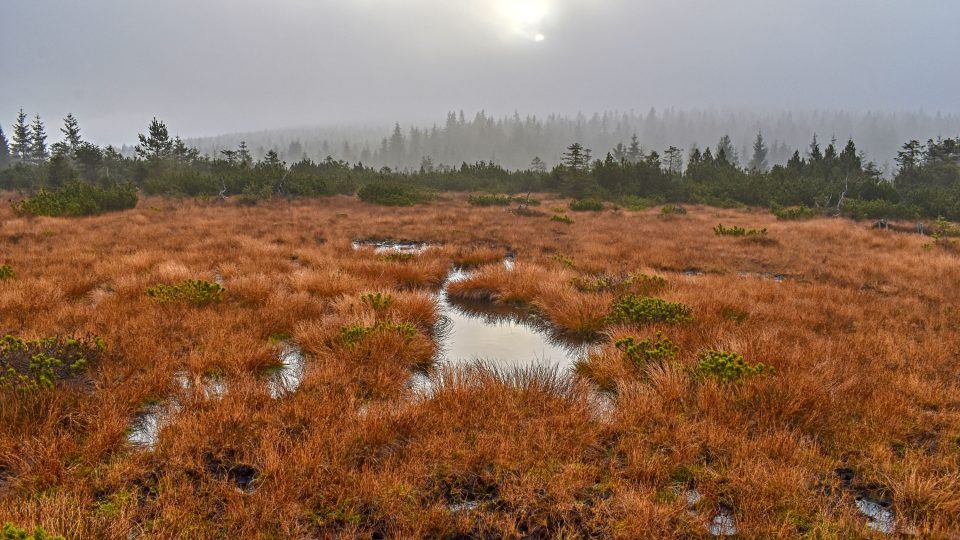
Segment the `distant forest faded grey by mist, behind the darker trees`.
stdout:
<svg viewBox="0 0 960 540">
<path fill-rule="evenodd" d="M 532 156 L 548 166 L 560 163 L 563 149 L 578 141 L 588 148 L 609 149 L 637 135 L 647 150 L 671 145 L 689 150 L 712 144 L 728 135 L 735 147 L 732 161 L 746 164 L 750 145 L 763 131 L 771 165 L 784 164 L 793 150 L 806 147 L 812 133 L 853 138 L 881 170 L 892 174 L 893 156 L 903 141 L 936 134 L 960 134 L 960 117 L 924 113 L 857 113 L 797 111 L 757 113 L 736 110 L 651 109 L 592 115 L 544 117 L 513 114 L 495 117 L 483 111 L 449 112 L 436 123 L 378 127 L 329 126 L 277 129 L 227 134 L 189 140 L 201 153 L 219 155 L 246 141 L 255 159 L 269 150 L 294 163 L 304 157 L 322 161 L 327 156 L 376 168 L 416 171 L 425 157 L 434 163 L 477 161 L 499 163 L 507 169 L 525 169 Z M 122 152 L 133 154 L 133 148 Z"/>
</svg>

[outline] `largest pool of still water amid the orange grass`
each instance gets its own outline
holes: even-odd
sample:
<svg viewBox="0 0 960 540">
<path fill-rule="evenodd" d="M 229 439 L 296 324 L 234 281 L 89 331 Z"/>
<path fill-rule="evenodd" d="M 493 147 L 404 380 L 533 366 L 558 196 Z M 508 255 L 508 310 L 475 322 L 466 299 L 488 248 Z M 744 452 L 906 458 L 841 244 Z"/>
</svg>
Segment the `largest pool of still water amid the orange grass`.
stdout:
<svg viewBox="0 0 960 540">
<path fill-rule="evenodd" d="M 469 277 L 454 270 L 447 284 Z M 481 361 L 495 368 L 544 365 L 561 371 L 573 367 L 585 354 L 582 342 L 557 335 L 529 311 L 489 302 L 464 302 L 447 296 L 446 285 L 437 298 L 444 319 L 438 360 L 451 365 Z"/>
</svg>

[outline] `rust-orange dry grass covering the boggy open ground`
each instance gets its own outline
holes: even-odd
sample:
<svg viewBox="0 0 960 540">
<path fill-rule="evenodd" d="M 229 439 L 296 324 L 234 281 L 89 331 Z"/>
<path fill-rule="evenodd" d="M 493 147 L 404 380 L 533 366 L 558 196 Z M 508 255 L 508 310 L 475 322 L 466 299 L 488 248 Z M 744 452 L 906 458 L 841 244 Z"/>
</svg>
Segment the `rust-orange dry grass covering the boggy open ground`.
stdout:
<svg viewBox="0 0 960 540">
<path fill-rule="evenodd" d="M 747 538 L 856 538 L 870 496 L 901 530 L 960 531 L 960 259 L 918 236 L 713 208 L 565 225 L 460 198 L 0 218 L 15 272 L 0 334 L 106 344 L 87 383 L 0 387 L 0 522 L 77 538 L 696 538 L 727 509 Z M 351 245 L 368 238 L 431 247 Z M 454 265 L 475 270 L 451 296 L 600 339 L 572 375 L 437 371 L 434 300 Z M 146 294 L 189 279 L 226 292 Z M 644 318 L 645 296 L 692 320 Z M 290 344 L 301 376 L 271 396 Z M 710 371 L 709 351 L 769 369 Z M 410 386 L 423 369 L 428 393 Z M 151 406 L 159 437 L 135 447 Z"/>
</svg>

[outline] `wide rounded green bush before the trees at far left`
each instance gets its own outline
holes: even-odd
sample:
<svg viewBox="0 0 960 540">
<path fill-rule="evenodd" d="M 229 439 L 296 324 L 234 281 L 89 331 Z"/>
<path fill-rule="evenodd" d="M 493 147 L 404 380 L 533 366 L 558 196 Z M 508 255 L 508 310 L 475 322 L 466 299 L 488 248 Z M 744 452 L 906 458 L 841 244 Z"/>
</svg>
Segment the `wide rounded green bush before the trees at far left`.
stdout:
<svg viewBox="0 0 960 540">
<path fill-rule="evenodd" d="M 54 191 L 41 189 L 29 199 L 13 203 L 19 215 L 76 217 L 126 210 L 137 205 L 132 183 L 101 188 L 87 182 L 69 182 Z"/>
</svg>

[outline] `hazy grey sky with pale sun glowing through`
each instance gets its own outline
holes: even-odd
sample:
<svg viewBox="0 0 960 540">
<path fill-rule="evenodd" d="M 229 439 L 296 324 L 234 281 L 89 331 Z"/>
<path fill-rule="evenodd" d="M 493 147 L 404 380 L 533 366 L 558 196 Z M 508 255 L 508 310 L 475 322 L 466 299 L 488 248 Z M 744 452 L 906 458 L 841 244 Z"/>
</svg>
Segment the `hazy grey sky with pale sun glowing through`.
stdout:
<svg viewBox="0 0 960 540">
<path fill-rule="evenodd" d="M 0 0 L 0 125 L 99 143 L 652 106 L 960 112 L 956 0 Z"/>
</svg>

